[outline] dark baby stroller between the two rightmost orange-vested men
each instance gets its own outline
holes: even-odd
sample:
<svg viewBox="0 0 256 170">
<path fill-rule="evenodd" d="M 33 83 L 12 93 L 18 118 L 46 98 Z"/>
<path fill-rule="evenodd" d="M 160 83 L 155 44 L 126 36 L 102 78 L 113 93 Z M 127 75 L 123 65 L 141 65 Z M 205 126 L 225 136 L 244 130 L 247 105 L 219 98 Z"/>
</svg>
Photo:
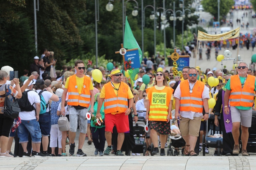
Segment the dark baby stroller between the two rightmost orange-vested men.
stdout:
<svg viewBox="0 0 256 170">
<path fill-rule="evenodd" d="M 205 156 L 205 147 L 206 145 L 211 148 L 217 148 L 217 155 L 221 155 L 221 149 L 223 148 L 223 138 L 216 138 L 216 137 L 208 137 L 209 135 L 214 135 L 220 133 L 219 127 L 215 126 L 214 124 L 214 117 L 215 115 L 209 115 L 209 119 L 206 121 L 206 136 L 203 135 L 203 156 Z M 219 118 L 218 118 L 219 119 Z M 219 119 L 220 121 L 220 119 Z M 210 122 L 210 123 L 209 123 Z M 208 123 L 210 130 L 208 132 Z"/>
</svg>

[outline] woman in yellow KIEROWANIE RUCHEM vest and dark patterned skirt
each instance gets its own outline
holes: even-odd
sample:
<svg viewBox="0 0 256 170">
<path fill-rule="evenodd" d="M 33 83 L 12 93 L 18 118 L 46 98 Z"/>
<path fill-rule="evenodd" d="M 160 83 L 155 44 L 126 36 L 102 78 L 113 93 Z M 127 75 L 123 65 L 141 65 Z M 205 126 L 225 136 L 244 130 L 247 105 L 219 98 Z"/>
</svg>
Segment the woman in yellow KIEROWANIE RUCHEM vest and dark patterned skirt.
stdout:
<svg viewBox="0 0 256 170">
<path fill-rule="evenodd" d="M 165 74 L 161 71 L 156 73 L 155 79 L 155 86 L 146 89 L 146 99 L 148 99 L 148 103 L 145 118 L 150 121 L 150 136 L 155 147 L 151 155 L 159 154 L 159 149 L 157 147 L 157 133 L 159 133 L 161 142 L 160 155 L 164 156 L 166 137 L 171 133 L 170 117 L 172 111 L 171 99 L 173 89 L 168 87 Z"/>
</svg>

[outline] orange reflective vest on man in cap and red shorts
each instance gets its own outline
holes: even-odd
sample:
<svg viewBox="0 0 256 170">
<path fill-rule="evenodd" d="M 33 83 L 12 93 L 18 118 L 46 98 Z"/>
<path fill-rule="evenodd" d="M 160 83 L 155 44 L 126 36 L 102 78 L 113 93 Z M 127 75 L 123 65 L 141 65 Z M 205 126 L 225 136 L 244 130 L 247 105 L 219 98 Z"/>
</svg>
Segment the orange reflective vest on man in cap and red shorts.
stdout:
<svg viewBox="0 0 256 170">
<path fill-rule="evenodd" d="M 124 113 L 128 108 L 128 85 L 121 82 L 117 95 L 111 82 L 104 85 L 105 100 L 104 112 L 105 114 L 117 112 Z"/>
</svg>

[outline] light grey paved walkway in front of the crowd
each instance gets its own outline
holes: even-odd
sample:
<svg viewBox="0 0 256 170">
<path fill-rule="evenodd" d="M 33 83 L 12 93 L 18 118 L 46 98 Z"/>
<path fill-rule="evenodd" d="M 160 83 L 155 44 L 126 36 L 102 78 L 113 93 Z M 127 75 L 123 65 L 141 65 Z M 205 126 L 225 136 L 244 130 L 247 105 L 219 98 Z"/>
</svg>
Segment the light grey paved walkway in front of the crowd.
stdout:
<svg viewBox="0 0 256 170">
<path fill-rule="evenodd" d="M 161 168 L 178 170 L 250 170 L 256 169 L 255 160 L 255 156 L 103 156 L 0 158 L 0 169 L 144 170 Z"/>
</svg>

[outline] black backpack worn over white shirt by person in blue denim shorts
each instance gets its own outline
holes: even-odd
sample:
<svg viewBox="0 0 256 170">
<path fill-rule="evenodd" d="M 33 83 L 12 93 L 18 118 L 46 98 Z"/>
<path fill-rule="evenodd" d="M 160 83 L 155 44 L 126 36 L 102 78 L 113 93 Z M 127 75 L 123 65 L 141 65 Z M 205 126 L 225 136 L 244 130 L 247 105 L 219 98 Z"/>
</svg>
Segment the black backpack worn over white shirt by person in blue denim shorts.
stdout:
<svg viewBox="0 0 256 170">
<path fill-rule="evenodd" d="M 31 105 L 31 103 L 28 100 L 28 92 L 29 91 L 33 91 L 33 90 L 24 91 L 22 93 L 22 97 L 20 99 L 16 99 L 19 104 L 19 108 L 20 108 L 21 112 L 23 112 L 23 111 L 31 112 L 31 111 L 35 110 L 35 108 L 33 106 L 34 103 Z"/>
</svg>

